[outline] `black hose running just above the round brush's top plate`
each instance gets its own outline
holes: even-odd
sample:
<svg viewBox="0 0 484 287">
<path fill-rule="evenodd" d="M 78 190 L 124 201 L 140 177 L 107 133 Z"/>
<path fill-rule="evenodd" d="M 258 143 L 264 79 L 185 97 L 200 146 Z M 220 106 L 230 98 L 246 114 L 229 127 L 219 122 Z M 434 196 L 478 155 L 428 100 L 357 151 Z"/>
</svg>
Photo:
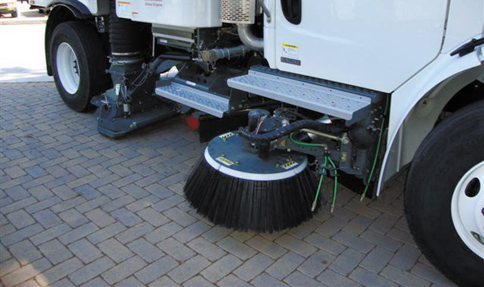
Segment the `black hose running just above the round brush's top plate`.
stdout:
<svg viewBox="0 0 484 287">
<path fill-rule="evenodd" d="M 279 139 L 280 137 L 289 135 L 291 132 L 301 130 L 301 128 L 310 128 L 313 130 L 318 130 L 319 132 L 326 132 L 331 135 L 339 135 L 347 130 L 347 128 L 344 126 L 328 125 L 312 119 L 302 119 L 301 121 L 294 121 L 287 126 L 283 126 L 277 130 L 272 130 L 271 132 L 261 135 L 256 135 L 250 132 L 247 128 L 239 128 L 239 135 L 254 143 L 266 144 L 270 141 L 274 141 L 274 139 Z"/>
</svg>

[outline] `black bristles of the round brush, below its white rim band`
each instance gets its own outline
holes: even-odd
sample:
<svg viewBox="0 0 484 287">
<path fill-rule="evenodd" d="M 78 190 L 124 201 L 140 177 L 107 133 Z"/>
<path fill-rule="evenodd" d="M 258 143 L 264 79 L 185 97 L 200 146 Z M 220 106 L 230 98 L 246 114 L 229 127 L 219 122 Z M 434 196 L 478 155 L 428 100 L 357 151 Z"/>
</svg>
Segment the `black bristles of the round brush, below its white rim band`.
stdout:
<svg viewBox="0 0 484 287">
<path fill-rule="evenodd" d="M 204 157 L 184 188 L 188 201 L 210 221 L 255 232 L 292 228 L 313 217 L 310 208 L 316 191 L 317 179 L 308 168 L 287 179 L 253 181 L 218 172 Z"/>
</svg>

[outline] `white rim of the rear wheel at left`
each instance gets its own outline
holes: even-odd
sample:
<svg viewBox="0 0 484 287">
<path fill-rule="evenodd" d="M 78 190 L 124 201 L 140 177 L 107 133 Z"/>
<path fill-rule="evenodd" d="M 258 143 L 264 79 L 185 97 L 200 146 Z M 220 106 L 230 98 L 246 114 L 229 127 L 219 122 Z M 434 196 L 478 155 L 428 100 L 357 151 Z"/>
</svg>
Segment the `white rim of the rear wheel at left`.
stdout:
<svg viewBox="0 0 484 287">
<path fill-rule="evenodd" d="M 71 45 L 61 43 L 57 48 L 57 72 L 62 87 L 73 95 L 79 89 L 80 70 L 77 57 Z"/>
</svg>

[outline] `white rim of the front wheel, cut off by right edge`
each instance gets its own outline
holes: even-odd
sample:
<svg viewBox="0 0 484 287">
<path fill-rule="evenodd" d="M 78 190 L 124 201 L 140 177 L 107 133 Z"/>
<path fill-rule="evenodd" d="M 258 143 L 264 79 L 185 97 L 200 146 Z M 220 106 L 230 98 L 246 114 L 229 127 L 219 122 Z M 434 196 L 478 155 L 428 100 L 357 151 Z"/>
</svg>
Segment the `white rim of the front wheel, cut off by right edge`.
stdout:
<svg viewBox="0 0 484 287">
<path fill-rule="evenodd" d="M 484 259 L 484 161 L 458 182 L 451 202 L 452 221 L 465 245 Z"/>
</svg>

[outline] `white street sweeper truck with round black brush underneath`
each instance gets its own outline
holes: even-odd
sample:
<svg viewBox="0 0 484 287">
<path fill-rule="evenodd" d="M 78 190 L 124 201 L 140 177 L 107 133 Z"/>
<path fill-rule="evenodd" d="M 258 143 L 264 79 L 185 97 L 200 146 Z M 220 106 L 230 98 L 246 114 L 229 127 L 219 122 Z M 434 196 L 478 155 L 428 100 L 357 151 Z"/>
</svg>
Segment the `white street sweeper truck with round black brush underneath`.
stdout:
<svg viewBox="0 0 484 287">
<path fill-rule="evenodd" d="M 29 2 L 59 95 L 102 135 L 191 117 L 209 142 L 184 192 L 215 224 L 292 228 L 409 166 L 416 243 L 482 286 L 484 1 Z"/>
</svg>

